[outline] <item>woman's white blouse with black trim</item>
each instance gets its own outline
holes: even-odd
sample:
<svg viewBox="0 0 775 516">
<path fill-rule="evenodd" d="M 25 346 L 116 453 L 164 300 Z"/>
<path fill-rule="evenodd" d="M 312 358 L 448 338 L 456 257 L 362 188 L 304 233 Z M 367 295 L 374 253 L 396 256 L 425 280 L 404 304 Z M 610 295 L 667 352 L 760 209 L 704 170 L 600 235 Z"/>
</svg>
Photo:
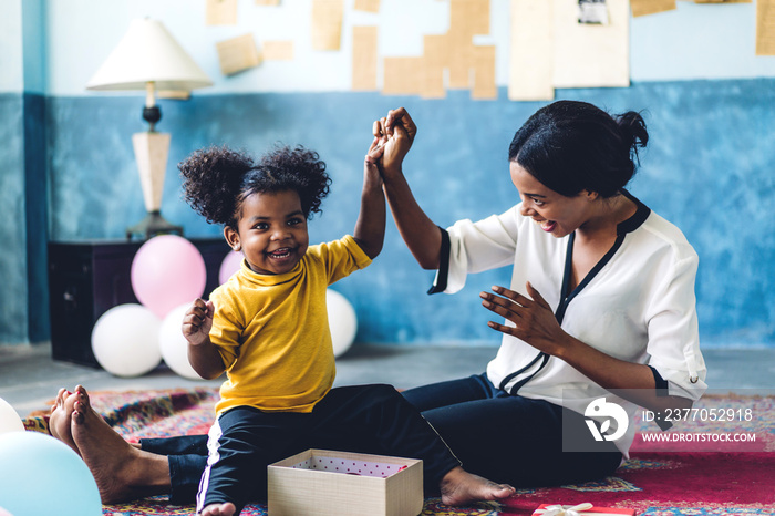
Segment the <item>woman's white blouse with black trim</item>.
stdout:
<svg viewBox="0 0 775 516">
<path fill-rule="evenodd" d="M 565 305 L 558 320 L 567 333 L 617 359 L 651 365 L 666 380 L 671 395 L 698 400 L 707 388 L 694 297 L 698 256 L 681 230 L 631 198 L 639 209 L 619 225 L 618 249 L 566 300 L 561 292 L 570 237 L 544 233 L 520 215 L 519 205 L 478 223 L 459 220 L 447 229 L 450 262 L 443 291 L 462 289 L 468 274 L 512 266 L 512 290 L 528 296 L 525 283 L 530 281 L 556 313 Z M 525 382 L 517 389 L 519 395 L 581 414 L 591 401 L 607 395 L 632 421 L 634 404 L 612 396 L 562 360 L 536 360 L 538 355 L 531 345 L 504 334 L 487 376 L 512 394 L 517 393 L 517 382 Z M 626 456 L 633 437 L 630 424 L 628 434 L 616 442 Z"/>
</svg>

